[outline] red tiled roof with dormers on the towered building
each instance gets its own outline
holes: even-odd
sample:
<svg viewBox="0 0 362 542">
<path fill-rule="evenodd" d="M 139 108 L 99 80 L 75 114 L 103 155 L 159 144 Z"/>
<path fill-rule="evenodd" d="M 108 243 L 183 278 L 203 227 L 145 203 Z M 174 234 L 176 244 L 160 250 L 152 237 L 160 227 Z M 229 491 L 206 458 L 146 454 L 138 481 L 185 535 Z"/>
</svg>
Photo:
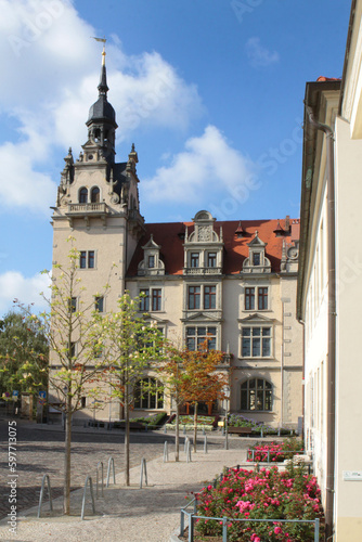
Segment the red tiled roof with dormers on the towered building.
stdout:
<svg viewBox="0 0 362 542">
<path fill-rule="evenodd" d="M 264 243 L 266 256 L 270 259 L 272 271 L 279 272 L 281 269 L 283 240 L 287 244 L 292 244 L 299 238 L 299 219 L 289 219 L 290 232 L 285 232 L 283 235 L 275 235 L 277 223 L 285 229 L 285 220 L 238 220 L 216 221 L 214 222 L 215 231 L 220 234 L 222 227 L 224 254 L 223 254 L 223 273 L 236 274 L 243 269 L 243 261 L 248 257 L 247 244 L 254 238 L 256 230 L 258 236 Z M 240 225 L 243 229 L 243 236 L 236 235 L 240 231 Z M 166 274 L 180 275 L 183 273 L 183 243 L 185 227 L 188 227 L 189 235 L 194 230 L 194 222 L 166 222 L 145 224 L 145 234 L 140 240 L 133 258 L 128 269 L 128 276 L 134 276 L 138 272 L 138 264 L 143 260 L 142 246 L 150 240 L 151 234 L 157 245 L 160 245 L 160 259 L 165 262 Z"/>
</svg>

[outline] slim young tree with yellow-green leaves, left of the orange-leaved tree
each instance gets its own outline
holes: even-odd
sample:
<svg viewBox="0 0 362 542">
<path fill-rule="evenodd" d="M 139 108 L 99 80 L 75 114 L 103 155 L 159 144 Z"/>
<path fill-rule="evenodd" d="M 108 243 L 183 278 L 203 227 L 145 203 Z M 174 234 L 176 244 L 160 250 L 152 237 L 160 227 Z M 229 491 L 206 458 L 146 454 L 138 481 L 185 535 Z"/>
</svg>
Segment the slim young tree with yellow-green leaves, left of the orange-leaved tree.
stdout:
<svg viewBox="0 0 362 542">
<path fill-rule="evenodd" d="M 126 292 L 118 300 L 118 310 L 98 314 L 94 326 L 104 364 L 111 375 L 112 396 L 119 399 L 125 413 L 125 482 L 130 485 L 129 413 L 133 390 L 153 362 L 163 359 L 161 334 L 148 314 L 139 314 L 140 297 Z M 143 387 L 143 392 L 148 391 Z M 153 391 L 153 390 L 151 390 Z"/>
</svg>

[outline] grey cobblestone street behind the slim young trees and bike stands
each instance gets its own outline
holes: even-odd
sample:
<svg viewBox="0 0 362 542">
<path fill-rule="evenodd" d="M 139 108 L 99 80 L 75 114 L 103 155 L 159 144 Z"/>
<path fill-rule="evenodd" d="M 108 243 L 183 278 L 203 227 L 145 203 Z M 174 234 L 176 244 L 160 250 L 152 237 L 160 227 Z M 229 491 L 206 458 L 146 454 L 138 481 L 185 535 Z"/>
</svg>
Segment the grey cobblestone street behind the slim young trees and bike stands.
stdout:
<svg viewBox="0 0 362 542">
<path fill-rule="evenodd" d="M 10 469 L 8 464 L 9 421 L 0 420 L 0 518 L 9 513 Z M 52 495 L 63 493 L 64 431 L 60 426 L 37 426 L 34 423 L 16 420 L 16 474 L 17 511 L 21 512 L 39 502 L 40 486 L 43 474 L 49 474 Z M 181 437 L 183 443 L 184 436 Z M 163 433 L 131 434 L 131 467 L 140 464 L 141 459 L 147 461 L 163 455 L 165 441 L 174 442 L 171 434 Z M 203 437 L 199 436 L 199 449 Z M 210 449 L 222 449 L 223 439 L 208 436 Z M 230 439 L 230 448 L 246 448 L 245 439 Z M 87 475 L 96 474 L 96 464 L 103 462 L 104 476 L 109 456 L 114 457 L 116 473 L 124 468 L 124 431 L 106 431 L 74 427 L 72 441 L 72 489 L 83 487 Z"/>
</svg>

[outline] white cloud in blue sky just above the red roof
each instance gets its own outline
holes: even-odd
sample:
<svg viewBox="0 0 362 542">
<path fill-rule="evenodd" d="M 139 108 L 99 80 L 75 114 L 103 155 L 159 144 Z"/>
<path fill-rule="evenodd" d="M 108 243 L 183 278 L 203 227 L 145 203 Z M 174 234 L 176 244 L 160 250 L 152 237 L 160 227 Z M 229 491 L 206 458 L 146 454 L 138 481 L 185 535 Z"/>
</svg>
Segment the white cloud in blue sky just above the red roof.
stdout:
<svg viewBox="0 0 362 542">
<path fill-rule="evenodd" d="M 231 194 L 250 186 L 256 167 L 233 149 L 215 127 L 208 126 L 199 138 L 191 138 L 185 150 L 173 156 L 169 167 L 160 167 L 152 179 L 142 181 L 143 199 L 150 202 L 205 203 L 205 196 Z"/>
</svg>

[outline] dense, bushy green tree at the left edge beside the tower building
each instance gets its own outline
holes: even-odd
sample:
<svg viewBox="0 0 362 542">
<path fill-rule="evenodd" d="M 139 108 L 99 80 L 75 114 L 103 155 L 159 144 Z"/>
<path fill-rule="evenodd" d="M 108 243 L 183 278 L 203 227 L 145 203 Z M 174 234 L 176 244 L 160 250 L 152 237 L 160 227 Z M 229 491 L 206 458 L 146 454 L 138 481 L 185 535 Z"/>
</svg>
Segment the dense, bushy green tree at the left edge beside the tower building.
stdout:
<svg viewBox="0 0 362 542">
<path fill-rule="evenodd" d="M 25 309 L 0 320 L 0 395 L 47 389 L 48 358 L 47 337 L 39 323 L 27 320 Z"/>
</svg>

